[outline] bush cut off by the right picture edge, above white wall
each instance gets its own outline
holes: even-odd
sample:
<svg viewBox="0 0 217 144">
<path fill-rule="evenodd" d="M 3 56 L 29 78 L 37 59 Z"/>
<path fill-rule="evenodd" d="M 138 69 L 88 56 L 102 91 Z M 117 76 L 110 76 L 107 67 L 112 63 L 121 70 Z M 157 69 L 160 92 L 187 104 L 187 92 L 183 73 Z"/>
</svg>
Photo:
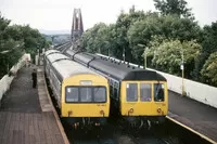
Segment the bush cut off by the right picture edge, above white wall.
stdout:
<svg viewBox="0 0 217 144">
<path fill-rule="evenodd" d="M 217 52 L 210 54 L 201 70 L 206 83 L 217 87 Z"/>
</svg>

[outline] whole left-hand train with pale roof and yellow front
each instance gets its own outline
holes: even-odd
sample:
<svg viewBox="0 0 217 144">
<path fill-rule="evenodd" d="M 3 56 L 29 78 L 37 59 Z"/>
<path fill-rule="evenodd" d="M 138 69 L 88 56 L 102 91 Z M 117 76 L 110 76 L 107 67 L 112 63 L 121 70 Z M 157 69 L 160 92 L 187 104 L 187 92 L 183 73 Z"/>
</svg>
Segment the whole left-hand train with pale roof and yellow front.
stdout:
<svg viewBox="0 0 217 144">
<path fill-rule="evenodd" d="M 44 69 L 62 118 L 75 128 L 106 123 L 110 115 L 106 78 L 55 50 L 44 53 Z"/>
</svg>

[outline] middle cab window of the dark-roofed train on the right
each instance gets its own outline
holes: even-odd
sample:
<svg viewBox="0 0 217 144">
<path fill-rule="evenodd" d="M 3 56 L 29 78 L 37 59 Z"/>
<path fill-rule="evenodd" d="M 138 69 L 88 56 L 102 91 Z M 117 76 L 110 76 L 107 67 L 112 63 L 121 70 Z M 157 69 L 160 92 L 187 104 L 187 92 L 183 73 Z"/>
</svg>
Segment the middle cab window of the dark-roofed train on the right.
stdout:
<svg viewBox="0 0 217 144">
<path fill-rule="evenodd" d="M 140 84 L 140 101 L 150 102 L 152 101 L 152 86 L 151 83 L 141 83 Z"/>
</svg>

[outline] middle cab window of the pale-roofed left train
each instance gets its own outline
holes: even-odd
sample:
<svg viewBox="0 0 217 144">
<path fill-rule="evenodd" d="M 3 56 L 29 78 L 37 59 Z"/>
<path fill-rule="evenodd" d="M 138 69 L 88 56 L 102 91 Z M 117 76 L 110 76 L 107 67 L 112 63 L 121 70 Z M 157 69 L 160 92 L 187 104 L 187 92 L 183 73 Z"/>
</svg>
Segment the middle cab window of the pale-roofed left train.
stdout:
<svg viewBox="0 0 217 144">
<path fill-rule="evenodd" d="M 91 102 L 92 92 L 91 88 L 80 88 L 80 102 Z"/>
</svg>

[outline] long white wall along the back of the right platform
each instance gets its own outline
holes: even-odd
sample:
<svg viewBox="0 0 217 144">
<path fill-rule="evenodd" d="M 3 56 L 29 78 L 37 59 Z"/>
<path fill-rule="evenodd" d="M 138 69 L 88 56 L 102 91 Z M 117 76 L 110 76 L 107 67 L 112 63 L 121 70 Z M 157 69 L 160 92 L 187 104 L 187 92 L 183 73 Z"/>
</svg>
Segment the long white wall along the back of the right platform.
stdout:
<svg viewBox="0 0 217 144">
<path fill-rule="evenodd" d="M 98 54 L 98 55 L 101 55 L 101 54 Z M 101 55 L 101 56 L 108 57 L 105 55 Z M 113 58 L 113 60 L 119 62 L 119 60 L 117 58 Z M 138 65 L 136 64 L 131 64 L 131 63 L 129 64 L 131 66 L 138 67 Z M 143 68 L 143 66 L 140 66 L 140 67 Z M 146 69 L 150 69 L 150 68 L 146 68 Z M 155 69 L 150 69 L 150 70 L 157 71 Z M 173 76 L 166 73 L 162 73 L 162 71 L 157 71 L 157 73 L 163 75 L 167 79 L 169 90 L 177 92 L 179 94 L 182 94 L 182 78 Z M 183 87 L 184 87 L 184 92 L 188 97 L 217 108 L 217 88 L 203 84 L 200 82 L 195 82 L 189 79 L 183 79 Z"/>
</svg>

